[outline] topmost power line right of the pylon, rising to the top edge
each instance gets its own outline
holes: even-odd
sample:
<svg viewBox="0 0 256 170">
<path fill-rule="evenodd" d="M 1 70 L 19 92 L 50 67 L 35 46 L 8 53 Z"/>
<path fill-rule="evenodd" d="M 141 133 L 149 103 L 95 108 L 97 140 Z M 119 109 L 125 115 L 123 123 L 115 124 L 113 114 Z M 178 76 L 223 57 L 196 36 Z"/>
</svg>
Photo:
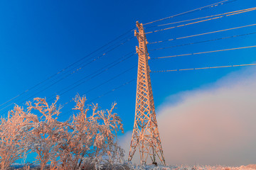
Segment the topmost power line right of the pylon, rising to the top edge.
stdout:
<svg viewBox="0 0 256 170">
<path fill-rule="evenodd" d="M 169 19 L 169 18 L 174 18 L 174 17 L 176 17 L 176 16 L 183 16 L 183 15 L 188 14 L 188 13 L 193 13 L 193 12 L 196 12 L 196 11 L 201 11 L 201 10 L 206 9 L 206 8 L 213 8 L 213 7 L 215 7 L 215 6 L 220 6 L 220 5 L 223 5 L 223 4 L 228 4 L 228 3 L 233 2 L 233 1 L 236 1 L 236 0 L 220 1 L 220 2 L 217 2 L 217 3 L 215 3 L 215 4 L 210 4 L 210 5 L 208 5 L 208 6 L 203 6 L 203 7 L 200 7 L 200 8 L 193 9 L 193 10 L 191 10 L 191 11 L 186 11 L 186 12 L 183 12 L 183 13 L 178 13 L 178 14 L 176 14 L 176 15 L 174 15 L 174 16 L 169 16 L 169 17 L 166 17 L 166 18 L 161 18 L 161 19 L 156 20 L 156 21 L 151 21 L 151 22 L 149 22 L 149 23 L 145 23 L 144 26 L 145 26 L 145 25 L 148 25 L 148 24 L 151 24 L 151 23 L 156 23 L 156 22 L 159 22 L 159 21 L 164 21 L 164 20 Z"/>
</svg>

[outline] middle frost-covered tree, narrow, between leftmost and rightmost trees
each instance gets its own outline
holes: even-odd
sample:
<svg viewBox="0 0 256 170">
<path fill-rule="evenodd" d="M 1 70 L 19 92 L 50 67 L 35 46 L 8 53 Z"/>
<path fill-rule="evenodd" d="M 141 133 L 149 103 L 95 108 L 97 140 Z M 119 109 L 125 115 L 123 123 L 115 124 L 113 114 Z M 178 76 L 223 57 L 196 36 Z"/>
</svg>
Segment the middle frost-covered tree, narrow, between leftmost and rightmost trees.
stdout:
<svg viewBox="0 0 256 170">
<path fill-rule="evenodd" d="M 55 169 L 58 164 L 58 139 L 63 132 L 63 124 L 56 120 L 60 113 L 60 106 L 56 103 L 48 105 L 46 98 L 34 98 L 33 103 L 28 101 L 28 111 L 39 111 L 42 116 L 34 121 L 31 130 L 26 133 L 26 146 L 31 152 L 36 152 L 36 163 L 39 163 L 41 170 L 46 168 L 50 162 L 50 169 Z"/>
</svg>

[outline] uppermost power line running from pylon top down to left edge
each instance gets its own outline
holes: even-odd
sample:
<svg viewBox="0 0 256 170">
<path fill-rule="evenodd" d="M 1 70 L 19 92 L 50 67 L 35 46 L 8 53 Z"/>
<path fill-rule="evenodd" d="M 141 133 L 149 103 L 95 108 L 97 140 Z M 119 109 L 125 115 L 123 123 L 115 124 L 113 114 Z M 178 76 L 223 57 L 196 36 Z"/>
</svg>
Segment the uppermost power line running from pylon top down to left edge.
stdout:
<svg viewBox="0 0 256 170">
<path fill-rule="evenodd" d="M 110 45 L 112 42 L 114 42 L 115 40 L 118 40 L 119 38 L 121 38 L 122 36 L 126 35 L 127 33 L 131 33 L 133 30 L 135 30 L 136 28 L 132 28 L 131 30 L 123 33 L 122 35 L 117 36 L 117 38 L 114 38 L 114 40 L 111 40 L 110 42 L 107 42 L 107 44 L 102 45 L 102 47 L 97 48 L 97 50 L 94 50 L 93 52 L 90 52 L 90 54 L 86 55 L 85 57 L 82 57 L 80 60 L 73 62 L 73 64 L 68 65 L 68 67 L 65 67 L 64 69 L 60 70 L 59 72 L 51 75 L 50 77 L 48 77 L 47 79 L 44 79 L 43 81 L 40 81 L 38 84 L 32 86 L 31 88 L 27 89 L 26 91 L 23 91 L 21 94 L 18 94 L 17 96 L 14 96 L 13 98 L 10 98 L 8 101 L 2 103 L 0 106 L 5 105 L 6 103 L 9 103 L 10 101 L 13 101 L 15 98 L 18 98 L 19 96 L 22 96 L 23 94 L 26 94 L 28 91 L 31 91 L 32 89 L 36 88 L 37 86 L 43 84 L 44 82 L 48 81 L 49 79 L 52 79 L 53 77 L 55 77 L 56 75 L 60 74 L 61 72 L 65 72 L 66 69 L 72 67 L 73 65 L 77 64 L 78 62 L 81 62 L 82 60 L 84 60 L 85 58 L 89 57 L 90 55 L 92 55 L 93 53 L 102 50 L 102 48 L 107 47 L 107 45 Z M 1 110 L 0 110 L 1 111 Z"/>
</svg>

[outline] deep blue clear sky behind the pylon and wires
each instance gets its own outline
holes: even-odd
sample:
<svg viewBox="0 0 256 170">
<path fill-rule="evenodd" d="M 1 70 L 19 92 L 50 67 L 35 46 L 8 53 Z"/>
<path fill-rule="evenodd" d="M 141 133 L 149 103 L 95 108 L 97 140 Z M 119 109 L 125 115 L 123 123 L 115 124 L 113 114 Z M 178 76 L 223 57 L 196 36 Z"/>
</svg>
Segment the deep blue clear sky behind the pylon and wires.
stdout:
<svg viewBox="0 0 256 170">
<path fill-rule="evenodd" d="M 34 85 L 42 82 L 48 77 L 60 70 L 77 62 L 90 52 L 105 45 L 119 35 L 126 33 L 136 26 L 136 21 L 147 23 L 159 18 L 189 11 L 194 8 L 214 4 L 218 1 L 191 1 L 191 0 L 166 0 L 166 1 L 1 1 L 0 2 L 0 105 L 9 101 L 9 99 L 23 93 Z M 238 11 L 245 8 L 255 7 L 255 0 L 237 0 L 229 4 L 208 8 L 202 11 L 178 16 L 159 23 L 152 24 L 156 26 L 162 23 L 171 23 L 175 21 L 184 21 L 187 19 L 211 16 L 219 13 Z M 241 13 L 235 16 L 227 16 L 213 21 L 193 24 L 174 28 L 159 33 L 146 35 L 149 42 L 158 40 L 167 40 L 186 35 L 207 33 L 215 30 L 246 26 L 255 23 L 255 11 Z M 146 27 L 146 26 L 145 26 Z M 168 28 L 169 26 L 146 28 L 145 31 Z M 241 28 L 236 30 L 214 33 L 198 36 L 195 38 L 186 38 L 148 45 L 149 50 L 159 47 L 169 47 L 182 45 L 190 42 L 202 40 L 211 40 L 233 35 L 241 35 L 255 32 L 255 26 Z M 127 33 L 123 38 L 132 38 L 133 32 Z M 233 47 L 245 47 L 255 45 L 256 34 L 241 36 L 238 38 L 228 38 L 225 40 L 216 40 L 200 43 L 197 45 L 187 45 L 183 47 L 173 47 L 166 50 L 149 51 L 150 57 L 164 57 L 168 55 L 182 55 L 193 52 L 204 52 L 211 50 L 221 50 Z M 122 39 L 122 38 L 121 38 Z M 116 45 L 121 42 L 118 39 Z M 26 94 L 18 96 L 13 101 L 0 106 L 0 109 L 8 106 L 10 103 L 21 103 L 32 100 L 33 97 L 51 98 L 53 95 L 60 94 L 58 91 L 72 85 L 75 81 L 82 79 L 98 69 L 105 67 L 135 51 L 137 39 L 132 38 L 124 45 L 120 45 L 115 50 L 102 56 L 107 50 L 98 51 L 90 57 L 98 59 L 86 67 L 83 67 L 74 74 L 70 72 L 79 69 L 81 62 L 74 64 L 73 67 L 65 69 L 56 76 L 62 81 L 50 86 L 45 91 L 41 89 L 53 84 L 58 79 L 48 79 L 35 89 Z M 159 60 L 150 60 L 149 66 L 152 71 L 166 69 L 186 69 L 193 67 L 211 67 L 230 64 L 250 64 L 255 63 L 255 48 L 244 50 L 233 50 L 226 52 L 214 52 L 203 55 L 191 55 L 183 57 L 166 58 Z M 88 57 L 87 57 L 88 59 Z M 82 60 L 86 61 L 86 60 Z M 89 62 L 88 60 L 87 62 Z M 86 62 L 85 62 L 86 63 Z M 112 77 L 124 72 L 125 70 L 137 64 L 137 55 L 117 64 L 97 77 L 86 81 L 75 89 L 68 91 L 60 96 L 60 104 L 70 101 L 75 94 L 85 94 L 86 91 L 112 79 Z M 166 101 L 169 96 L 179 94 L 182 91 L 191 91 L 201 89 L 202 86 L 218 81 L 222 77 L 232 72 L 238 72 L 242 67 L 206 69 L 198 71 L 151 73 L 151 83 L 154 94 L 156 108 Z M 69 72 L 67 72 L 67 70 Z M 60 77 L 59 77 L 60 76 Z M 246 74 L 245 74 L 246 76 Z M 85 94 L 88 100 L 97 98 L 127 81 L 137 78 L 137 69 L 131 69 L 122 76 L 109 81 L 93 91 Z M 41 91 L 38 93 L 38 91 Z M 36 94 L 36 96 L 35 96 Z M 97 98 L 95 103 L 100 103 L 102 108 L 110 108 L 111 104 L 117 102 L 117 113 L 124 123 L 125 132 L 132 130 L 134 121 L 136 95 L 136 81 L 122 86 L 122 88 L 112 91 L 110 94 Z M 176 102 L 175 99 L 172 102 Z M 6 115 L 7 110 L 14 105 L 4 108 L 0 111 L 1 115 Z M 70 116 L 70 108 L 74 106 L 73 102 L 68 103 L 63 108 L 63 115 L 60 120 L 67 120 Z M 156 113 L 157 114 L 157 113 Z"/>
</svg>

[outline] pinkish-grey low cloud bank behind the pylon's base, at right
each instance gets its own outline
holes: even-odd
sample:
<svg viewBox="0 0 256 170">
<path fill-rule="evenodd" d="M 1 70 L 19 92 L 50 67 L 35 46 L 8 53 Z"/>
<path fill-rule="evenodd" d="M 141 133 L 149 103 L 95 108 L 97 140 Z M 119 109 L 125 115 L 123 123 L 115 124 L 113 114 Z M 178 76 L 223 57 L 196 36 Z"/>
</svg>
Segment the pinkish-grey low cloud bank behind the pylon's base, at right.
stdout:
<svg viewBox="0 0 256 170">
<path fill-rule="evenodd" d="M 170 96 L 156 111 L 167 164 L 256 164 L 255 69 Z M 173 103 L 177 98 L 178 103 Z M 129 153 L 132 132 L 121 144 Z M 134 162 L 139 162 L 138 158 Z"/>
</svg>

